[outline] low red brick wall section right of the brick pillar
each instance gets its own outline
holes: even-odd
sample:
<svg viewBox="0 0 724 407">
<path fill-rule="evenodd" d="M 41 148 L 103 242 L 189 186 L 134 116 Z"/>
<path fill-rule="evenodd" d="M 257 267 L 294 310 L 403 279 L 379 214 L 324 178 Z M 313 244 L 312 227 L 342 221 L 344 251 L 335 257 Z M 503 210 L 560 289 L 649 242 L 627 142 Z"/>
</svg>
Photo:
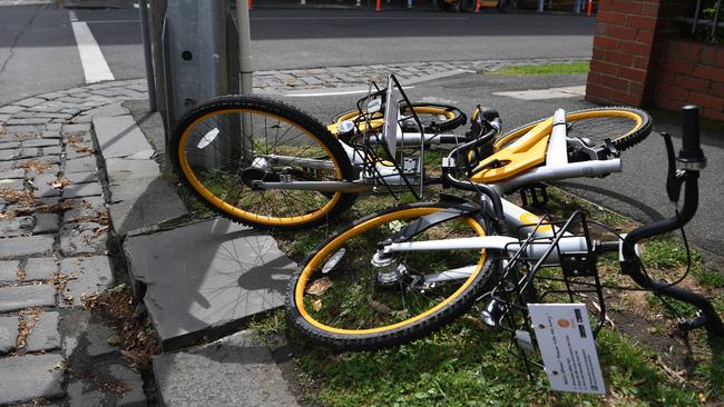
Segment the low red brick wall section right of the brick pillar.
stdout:
<svg viewBox="0 0 724 407">
<path fill-rule="evenodd" d="M 695 103 L 702 116 L 724 121 L 724 47 L 663 41 L 650 103 L 669 110 Z"/>
</svg>

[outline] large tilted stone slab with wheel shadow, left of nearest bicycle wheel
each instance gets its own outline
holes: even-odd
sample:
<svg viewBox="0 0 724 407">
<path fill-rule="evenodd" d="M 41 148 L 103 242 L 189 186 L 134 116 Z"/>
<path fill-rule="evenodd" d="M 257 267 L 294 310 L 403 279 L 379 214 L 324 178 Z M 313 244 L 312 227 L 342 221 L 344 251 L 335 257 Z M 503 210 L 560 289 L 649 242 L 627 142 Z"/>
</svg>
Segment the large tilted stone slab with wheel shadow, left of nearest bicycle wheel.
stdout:
<svg viewBox="0 0 724 407">
<path fill-rule="evenodd" d="M 126 239 L 129 271 L 165 349 L 214 338 L 280 307 L 296 268 L 270 236 L 215 219 Z"/>
</svg>

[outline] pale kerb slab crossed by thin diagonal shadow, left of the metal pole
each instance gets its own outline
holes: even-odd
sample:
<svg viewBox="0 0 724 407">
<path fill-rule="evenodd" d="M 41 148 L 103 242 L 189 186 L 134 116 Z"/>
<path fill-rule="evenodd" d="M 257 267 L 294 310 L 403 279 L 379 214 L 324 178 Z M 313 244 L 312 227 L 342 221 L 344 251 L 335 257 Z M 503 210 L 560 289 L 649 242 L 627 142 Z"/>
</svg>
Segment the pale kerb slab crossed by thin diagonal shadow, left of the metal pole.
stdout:
<svg viewBox="0 0 724 407">
<path fill-rule="evenodd" d="M 94 129 L 104 158 L 127 157 L 154 150 L 130 115 L 94 117 Z"/>
</svg>

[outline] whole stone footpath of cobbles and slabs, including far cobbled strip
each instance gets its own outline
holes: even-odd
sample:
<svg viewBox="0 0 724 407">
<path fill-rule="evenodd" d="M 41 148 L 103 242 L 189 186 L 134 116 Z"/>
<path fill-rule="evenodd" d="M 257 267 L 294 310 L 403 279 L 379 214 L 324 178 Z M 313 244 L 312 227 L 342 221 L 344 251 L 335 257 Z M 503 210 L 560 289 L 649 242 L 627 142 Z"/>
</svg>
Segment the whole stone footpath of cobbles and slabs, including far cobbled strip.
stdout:
<svg viewBox="0 0 724 407">
<path fill-rule="evenodd" d="M 267 71 L 254 83 L 322 92 L 388 71 L 410 83 L 562 61 Z M 265 234 L 188 211 L 158 163 L 164 129 L 146 99 L 139 79 L 0 107 L 0 405 L 297 405 L 268 347 L 239 330 L 283 304 L 296 265 Z M 100 294 L 128 287 L 135 330 L 97 311 L 114 298 Z M 139 348 L 147 336 L 157 348 Z M 150 369 L 138 369 L 144 351 L 157 354 Z"/>
</svg>

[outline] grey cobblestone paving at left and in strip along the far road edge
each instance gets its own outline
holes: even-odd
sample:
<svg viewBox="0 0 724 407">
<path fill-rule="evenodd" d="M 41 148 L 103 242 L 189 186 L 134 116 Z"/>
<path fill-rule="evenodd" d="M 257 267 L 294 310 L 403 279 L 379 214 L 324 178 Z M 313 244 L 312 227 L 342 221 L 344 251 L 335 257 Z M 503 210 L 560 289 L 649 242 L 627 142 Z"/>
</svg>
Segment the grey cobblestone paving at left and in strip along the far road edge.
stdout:
<svg viewBox="0 0 724 407">
<path fill-rule="evenodd" d="M 274 91 L 344 88 L 388 72 L 404 83 L 454 70 L 570 60 L 262 71 L 255 85 Z M 110 256 L 116 239 L 92 118 L 146 98 L 139 79 L 0 107 L 0 404 L 146 404 L 140 375 L 119 351 L 121 334 L 82 304 L 125 279 Z"/>
</svg>

